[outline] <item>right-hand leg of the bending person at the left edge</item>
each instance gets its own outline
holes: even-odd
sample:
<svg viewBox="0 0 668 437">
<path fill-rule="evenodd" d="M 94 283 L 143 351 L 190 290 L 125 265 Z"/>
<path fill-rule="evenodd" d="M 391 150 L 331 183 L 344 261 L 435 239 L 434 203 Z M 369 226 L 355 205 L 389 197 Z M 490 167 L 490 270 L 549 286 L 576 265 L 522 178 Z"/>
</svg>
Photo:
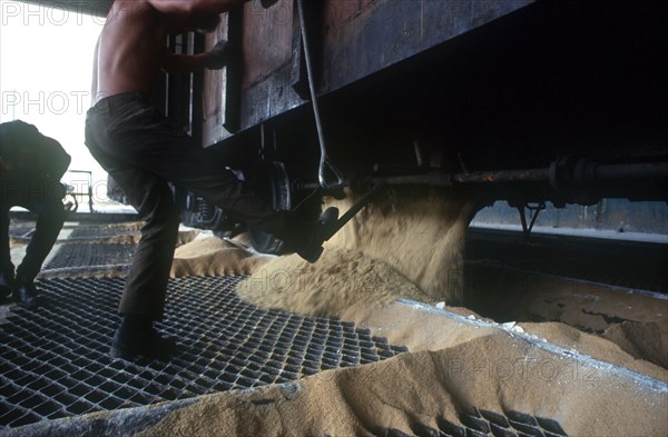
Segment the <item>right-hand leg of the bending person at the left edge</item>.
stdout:
<svg viewBox="0 0 668 437">
<path fill-rule="evenodd" d="M 35 308 L 39 305 L 35 278 L 62 229 L 65 209 L 59 199 L 49 197 L 22 202 L 21 206 L 37 215 L 37 224 L 26 256 L 17 267 L 13 297 L 22 307 Z"/>
</svg>

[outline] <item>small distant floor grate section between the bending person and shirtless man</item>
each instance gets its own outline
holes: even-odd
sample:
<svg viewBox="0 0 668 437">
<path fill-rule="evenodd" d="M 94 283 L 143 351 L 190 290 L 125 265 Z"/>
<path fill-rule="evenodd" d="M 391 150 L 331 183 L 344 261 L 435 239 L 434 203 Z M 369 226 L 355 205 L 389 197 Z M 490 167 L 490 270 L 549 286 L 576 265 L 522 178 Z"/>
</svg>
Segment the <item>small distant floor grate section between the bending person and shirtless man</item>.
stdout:
<svg viewBox="0 0 668 437">
<path fill-rule="evenodd" d="M 76 242 L 60 245 L 43 269 L 112 266 L 130 264 L 136 245 Z"/>
</svg>

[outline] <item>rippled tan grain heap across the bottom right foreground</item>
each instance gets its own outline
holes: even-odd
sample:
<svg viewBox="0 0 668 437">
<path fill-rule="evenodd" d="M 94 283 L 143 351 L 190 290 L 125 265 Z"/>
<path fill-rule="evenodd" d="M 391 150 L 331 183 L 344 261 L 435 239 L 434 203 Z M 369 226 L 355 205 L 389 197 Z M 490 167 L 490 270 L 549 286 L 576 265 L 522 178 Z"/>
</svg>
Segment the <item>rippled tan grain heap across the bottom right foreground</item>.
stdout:
<svg viewBox="0 0 668 437">
<path fill-rule="evenodd" d="M 394 324 L 393 334 L 405 331 L 418 342 L 425 337 L 435 341 L 373 365 L 204 397 L 141 435 L 431 435 L 419 434 L 419 426 L 436 429 L 445 421 L 460 426 L 461 414 L 475 410 L 531 415 L 568 435 L 665 435 L 668 398 L 656 387 L 666 381 L 666 370 L 633 366 L 635 371 L 659 378 L 645 381 L 610 365 L 598 367 L 576 352 L 552 352 L 541 339 L 532 342 L 489 324 L 477 326 L 402 304 L 393 304 L 385 316 Z M 372 331 L 379 334 L 380 325 L 373 325 Z M 566 337 L 572 336 L 561 332 L 561 326 L 551 328 L 568 346 L 632 364 L 612 344 L 596 337 L 570 342 Z M 513 435 L 523 435 L 521 430 L 508 429 Z"/>
</svg>

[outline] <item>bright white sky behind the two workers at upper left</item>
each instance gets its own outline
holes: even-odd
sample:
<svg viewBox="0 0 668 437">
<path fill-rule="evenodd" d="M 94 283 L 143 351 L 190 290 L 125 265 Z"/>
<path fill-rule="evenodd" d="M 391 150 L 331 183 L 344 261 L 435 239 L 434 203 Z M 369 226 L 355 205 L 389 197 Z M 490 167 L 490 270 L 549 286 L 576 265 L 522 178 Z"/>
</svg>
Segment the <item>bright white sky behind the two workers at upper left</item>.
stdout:
<svg viewBox="0 0 668 437">
<path fill-rule="evenodd" d="M 100 17 L 0 0 L 0 122 L 20 119 L 57 139 L 72 157 L 70 170 L 94 172 L 98 201 L 106 198 L 107 173 L 88 152 L 84 129 L 104 23 Z M 86 179 L 63 177 L 77 187 Z"/>
</svg>

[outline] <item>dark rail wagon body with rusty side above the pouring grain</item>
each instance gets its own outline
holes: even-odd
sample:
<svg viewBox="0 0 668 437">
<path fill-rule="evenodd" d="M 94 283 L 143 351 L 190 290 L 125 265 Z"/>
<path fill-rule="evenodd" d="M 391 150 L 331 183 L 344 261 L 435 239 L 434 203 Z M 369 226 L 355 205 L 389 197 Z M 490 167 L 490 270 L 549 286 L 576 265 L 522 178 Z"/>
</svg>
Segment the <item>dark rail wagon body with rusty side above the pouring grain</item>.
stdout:
<svg viewBox="0 0 668 437">
<path fill-rule="evenodd" d="M 102 13 L 109 1 L 60 6 Z M 668 3 L 305 0 L 322 130 L 345 183 L 474 185 L 490 200 L 666 200 Z M 243 57 L 166 77 L 156 100 L 250 173 L 281 161 L 317 186 L 318 137 L 297 0 L 225 14 Z M 419 151 L 416 153 L 416 150 Z M 336 185 L 336 183 L 333 183 Z"/>
</svg>

